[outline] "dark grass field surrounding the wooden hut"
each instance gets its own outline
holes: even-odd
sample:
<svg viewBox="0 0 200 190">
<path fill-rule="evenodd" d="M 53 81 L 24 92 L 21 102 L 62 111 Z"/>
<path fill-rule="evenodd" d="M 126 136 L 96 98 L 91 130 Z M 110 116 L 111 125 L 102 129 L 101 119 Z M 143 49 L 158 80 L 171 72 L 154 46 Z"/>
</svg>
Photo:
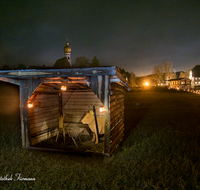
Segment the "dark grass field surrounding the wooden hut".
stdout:
<svg viewBox="0 0 200 190">
<path fill-rule="evenodd" d="M 200 189 L 200 95 L 127 93 L 125 138 L 111 158 L 22 149 L 17 87 L 0 83 L 0 108 L 0 189 Z"/>
</svg>

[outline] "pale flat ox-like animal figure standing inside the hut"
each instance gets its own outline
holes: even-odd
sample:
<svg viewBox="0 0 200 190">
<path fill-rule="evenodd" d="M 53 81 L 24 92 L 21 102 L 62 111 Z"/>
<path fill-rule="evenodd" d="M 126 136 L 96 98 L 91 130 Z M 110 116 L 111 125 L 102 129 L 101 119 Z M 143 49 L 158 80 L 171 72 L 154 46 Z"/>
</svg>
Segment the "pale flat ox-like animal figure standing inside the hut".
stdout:
<svg viewBox="0 0 200 190">
<path fill-rule="evenodd" d="M 93 138 L 92 142 L 95 142 L 95 144 L 98 144 L 98 134 L 96 130 L 96 123 L 94 118 L 94 112 L 91 110 L 83 117 L 81 120 L 83 124 L 88 124 L 89 128 L 92 131 Z M 105 118 L 104 117 L 97 117 L 97 124 L 98 124 L 98 132 L 99 134 L 104 134 L 104 125 L 105 125 Z"/>
</svg>

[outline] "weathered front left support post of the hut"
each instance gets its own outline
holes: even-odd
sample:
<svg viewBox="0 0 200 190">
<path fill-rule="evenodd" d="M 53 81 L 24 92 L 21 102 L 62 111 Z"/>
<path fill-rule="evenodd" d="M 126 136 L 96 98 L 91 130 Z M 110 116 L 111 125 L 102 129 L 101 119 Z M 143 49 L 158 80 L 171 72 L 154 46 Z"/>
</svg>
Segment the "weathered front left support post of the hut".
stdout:
<svg viewBox="0 0 200 190">
<path fill-rule="evenodd" d="M 31 146 L 27 100 L 28 100 L 28 83 L 27 80 L 23 80 L 21 81 L 20 84 L 20 118 L 21 118 L 22 147 Z"/>
</svg>

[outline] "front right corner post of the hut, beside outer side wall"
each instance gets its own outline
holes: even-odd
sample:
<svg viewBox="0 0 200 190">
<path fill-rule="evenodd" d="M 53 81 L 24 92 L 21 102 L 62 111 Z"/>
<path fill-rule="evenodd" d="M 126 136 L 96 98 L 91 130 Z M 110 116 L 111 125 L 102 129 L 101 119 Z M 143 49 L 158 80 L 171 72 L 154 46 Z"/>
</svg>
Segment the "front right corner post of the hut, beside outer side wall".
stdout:
<svg viewBox="0 0 200 190">
<path fill-rule="evenodd" d="M 104 154 L 110 155 L 110 76 L 105 75 L 104 83 L 104 107 L 107 112 L 105 114 L 105 141 L 104 141 Z"/>
</svg>

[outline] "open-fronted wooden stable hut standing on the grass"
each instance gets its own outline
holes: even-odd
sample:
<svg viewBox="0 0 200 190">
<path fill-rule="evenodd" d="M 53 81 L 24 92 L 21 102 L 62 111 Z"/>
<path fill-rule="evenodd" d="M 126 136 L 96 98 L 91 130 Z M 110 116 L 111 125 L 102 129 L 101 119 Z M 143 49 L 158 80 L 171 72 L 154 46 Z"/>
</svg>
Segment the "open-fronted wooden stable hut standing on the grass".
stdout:
<svg viewBox="0 0 200 190">
<path fill-rule="evenodd" d="M 87 128 L 81 119 L 93 108 L 97 118 L 105 118 L 103 151 L 99 153 L 110 156 L 123 138 L 124 93 L 129 87 L 116 67 L 1 70 L 0 80 L 20 87 L 24 148 L 40 149 L 38 144 L 55 138 L 59 133 L 61 112 L 64 126 Z M 62 86 L 66 87 L 65 91 L 61 91 Z M 28 104 L 32 104 L 32 107 L 28 108 Z M 106 112 L 100 113 L 101 106 Z M 55 148 L 48 147 L 48 150 Z"/>
</svg>

